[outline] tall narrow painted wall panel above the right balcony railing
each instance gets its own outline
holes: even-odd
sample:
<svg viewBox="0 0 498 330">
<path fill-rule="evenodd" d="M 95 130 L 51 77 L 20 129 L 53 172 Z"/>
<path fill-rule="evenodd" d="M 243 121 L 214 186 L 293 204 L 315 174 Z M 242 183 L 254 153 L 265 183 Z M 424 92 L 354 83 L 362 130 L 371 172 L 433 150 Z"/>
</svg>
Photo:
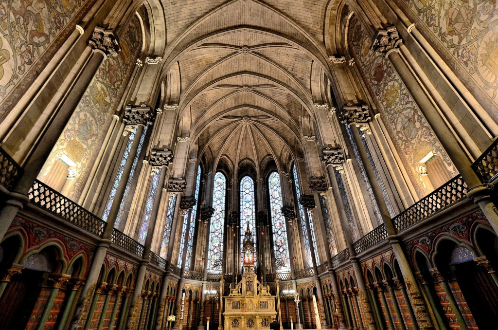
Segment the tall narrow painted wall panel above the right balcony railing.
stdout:
<svg viewBox="0 0 498 330">
<path fill-rule="evenodd" d="M 350 49 L 359 65 L 370 94 L 382 116 L 389 136 L 419 197 L 428 194 L 418 162 L 429 152 L 441 157 L 450 176 L 456 169 L 423 118 L 388 59 L 370 50 L 371 40 L 356 17 L 351 20 Z"/>
</svg>

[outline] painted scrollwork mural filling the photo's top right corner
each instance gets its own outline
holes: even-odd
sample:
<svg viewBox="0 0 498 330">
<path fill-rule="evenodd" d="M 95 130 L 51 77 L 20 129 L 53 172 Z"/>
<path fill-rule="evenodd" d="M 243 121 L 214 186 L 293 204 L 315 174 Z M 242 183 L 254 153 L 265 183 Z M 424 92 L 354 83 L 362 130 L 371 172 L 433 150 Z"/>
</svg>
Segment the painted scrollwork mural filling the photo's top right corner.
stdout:
<svg viewBox="0 0 498 330">
<path fill-rule="evenodd" d="M 498 120 L 498 5 L 395 0 L 481 105 Z"/>
</svg>

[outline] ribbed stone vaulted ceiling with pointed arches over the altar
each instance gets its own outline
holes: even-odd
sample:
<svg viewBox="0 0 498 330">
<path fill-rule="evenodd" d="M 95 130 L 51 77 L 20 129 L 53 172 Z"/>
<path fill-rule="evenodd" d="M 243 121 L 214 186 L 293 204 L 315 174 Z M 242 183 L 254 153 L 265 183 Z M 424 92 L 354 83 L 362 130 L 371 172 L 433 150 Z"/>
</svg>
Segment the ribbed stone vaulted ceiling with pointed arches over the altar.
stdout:
<svg viewBox="0 0 498 330">
<path fill-rule="evenodd" d="M 163 72 L 179 135 L 238 166 L 305 157 L 315 103 L 327 103 L 327 1 L 163 0 Z"/>
</svg>

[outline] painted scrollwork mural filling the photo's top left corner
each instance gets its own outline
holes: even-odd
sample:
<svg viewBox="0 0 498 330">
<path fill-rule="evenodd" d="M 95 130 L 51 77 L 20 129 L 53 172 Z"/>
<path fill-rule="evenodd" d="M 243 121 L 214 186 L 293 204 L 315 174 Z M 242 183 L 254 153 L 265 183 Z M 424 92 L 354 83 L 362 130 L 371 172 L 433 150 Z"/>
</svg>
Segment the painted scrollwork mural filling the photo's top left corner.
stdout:
<svg viewBox="0 0 498 330">
<path fill-rule="evenodd" d="M 0 0 L 0 121 L 96 0 Z"/>
</svg>

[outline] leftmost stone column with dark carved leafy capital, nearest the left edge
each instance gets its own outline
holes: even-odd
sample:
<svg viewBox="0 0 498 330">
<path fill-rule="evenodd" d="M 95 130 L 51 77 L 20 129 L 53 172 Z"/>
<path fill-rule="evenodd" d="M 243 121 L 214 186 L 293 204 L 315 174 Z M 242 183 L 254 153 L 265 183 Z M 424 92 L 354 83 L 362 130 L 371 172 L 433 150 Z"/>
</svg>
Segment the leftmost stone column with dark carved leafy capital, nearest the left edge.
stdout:
<svg viewBox="0 0 498 330">
<path fill-rule="evenodd" d="M 95 73 L 99 69 L 102 61 L 107 57 L 117 55 L 120 49 L 118 42 L 112 30 L 105 30 L 97 26 L 93 33 L 92 39 L 88 41 L 89 48 L 92 49 L 92 55 L 86 63 L 84 70 L 81 72 L 78 80 L 74 83 L 73 88 L 68 94 L 68 97 L 55 110 L 56 115 L 50 124 L 50 127 L 41 137 L 36 148 L 27 158 L 23 174 L 20 176 L 16 185 L 11 189 L 8 199 L 0 210 L 0 239 L 7 232 L 10 223 L 22 206 L 29 202 L 27 193 L 36 176 L 42 169 L 45 161 L 52 152 L 54 145 L 57 143 L 60 135 L 64 131 L 67 123 L 73 115 L 74 109 L 80 102 L 88 85 L 92 81 Z"/>
</svg>

